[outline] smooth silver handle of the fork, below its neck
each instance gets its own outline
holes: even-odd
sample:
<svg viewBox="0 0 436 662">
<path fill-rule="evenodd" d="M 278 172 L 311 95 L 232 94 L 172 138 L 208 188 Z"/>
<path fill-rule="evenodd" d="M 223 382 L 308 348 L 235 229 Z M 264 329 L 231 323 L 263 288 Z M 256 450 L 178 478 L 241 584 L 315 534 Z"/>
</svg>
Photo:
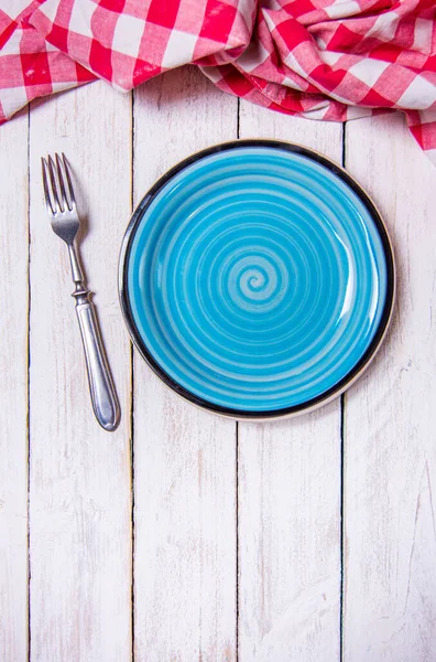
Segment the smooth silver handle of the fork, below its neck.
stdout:
<svg viewBox="0 0 436 662">
<path fill-rule="evenodd" d="M 76 296 L 76 312 L 84 343 L 94 413 L 105 430 L 113 431 L 120 421 L 120 405 L 102 344 L 96 309 L 86 290 L 76 291 L 73 296 Z"/>
</svg>

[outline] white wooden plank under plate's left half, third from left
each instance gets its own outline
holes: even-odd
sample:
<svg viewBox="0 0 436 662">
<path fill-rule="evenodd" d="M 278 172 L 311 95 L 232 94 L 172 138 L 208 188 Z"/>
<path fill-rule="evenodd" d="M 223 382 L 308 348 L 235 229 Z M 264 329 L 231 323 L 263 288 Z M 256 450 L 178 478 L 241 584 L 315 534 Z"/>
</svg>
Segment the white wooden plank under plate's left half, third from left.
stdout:
<svg viewBox="0 0 436 662">
<path fill-rule="evenodd" d="M 237 100 L 194 68 L 134 103 L 135 201 L 171 166 L 236 138 Z M 135 660 L 236 660 L 236 425 L 134 360 Z"/>
</svg>

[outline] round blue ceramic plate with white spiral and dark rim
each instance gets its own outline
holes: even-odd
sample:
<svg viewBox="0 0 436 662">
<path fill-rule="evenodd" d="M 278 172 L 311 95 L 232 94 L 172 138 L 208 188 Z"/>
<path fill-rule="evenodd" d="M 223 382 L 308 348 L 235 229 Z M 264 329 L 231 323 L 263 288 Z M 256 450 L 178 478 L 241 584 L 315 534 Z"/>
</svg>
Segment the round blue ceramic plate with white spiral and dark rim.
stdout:
<svg viewBox="0 0 436 662">
<path fill-rule="evenodd" d="M 181 395 L 239 418 L 290 415 L 344 391 L 374 354 L 392 249 L 340 168 L 293 145 L 238 141 L 145 195 L 120 295 L 140 352 Z"/>
</svg>

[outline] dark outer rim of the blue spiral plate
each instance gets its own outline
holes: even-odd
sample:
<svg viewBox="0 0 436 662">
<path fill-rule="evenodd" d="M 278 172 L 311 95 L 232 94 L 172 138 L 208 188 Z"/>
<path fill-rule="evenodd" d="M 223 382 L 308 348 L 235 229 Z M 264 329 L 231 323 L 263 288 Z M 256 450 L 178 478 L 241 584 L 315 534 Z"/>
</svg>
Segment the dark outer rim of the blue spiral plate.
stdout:
<svg viewBox="0 0 436 662">
<path fill-rule="evenodd" d="M 233 149 L 239 149 L 239 148 L 247 148 L 247 147 L 270 147 L 273 149 L 279 149 L 279 150 L 293 152 L 296 154 L 302 154 L 304 157 L 312 159 L 313 161 L 316 161 L 317 163 L 320 163 L 321 166 L 327 168 L 330 172 L 334 172 L 337 177 L 339 177 L 344 182 L 346 182 L 346 184 L 361 200 L 361 202 L 367 207 L 367 210 L 369 211 L 369 213 L 372 216 L 372 220 L 375 223 L 377 229 L 379 232 L 379 235 L 380 235 L 380 238 L 381 238 L 381 242 L 383 245 L 384 257 L 386 260 L 386 271 L 388 271 L 386 299 L 384 302 L 383 313 L 382 313 L 379 327 L 377 329 L 374 338 L 371 341 L 371 344 L 369 345 L 369 348 L 367 349 L 364 354 L 361 356 L 361 359 L 352 367 L 352 370 L 349 371 L 337 384 L 335 384 L 334 386 L 331 386 L 330 388 L 328 388 L 327 391 L 325 391 L 324 393 L 321 393 L 320 395 L 318 395 L 315 398 L 308 399 L 304 403 L 301 403 L 299 405 L 294 405 L 292 407 L 284 407 L 281 409 L 255 410 L 255 412 L 251 412 L 249 409 L 236 409 L 236 408 L 231 408 L 231 407 L 222 407 L 221 405 L 217 405 L 217 404 L 211 403 L 203 397 L 199 397 L 198 395 L 192 393 L 184 386 L 181 386 L 181 384 L 178 384 L 175 380 L 173 380 L 173 377 L 171 377 L 161 367 L 161 365 L 155 361 L 155 359 L 152 356 L 152 354 L 148 350 L 143 339 L 141 338 L 139 330 L 137 328 L 137 324 L 134 322 L 134 319 L 133 319 L 132 310 L 130 307 L 129 293 L 128 293 L 128 265 L 129 265 L 130 252 L 131 252 L 133 238 L 135 236 L 137 229 L 139 227 L 139 224 L 141 223 L 141 220 L 142 220 L 145 211 L 148 210 L 148 207 L 150 206 L 151 202 L 154 200 L 156 194 L 161 191 L 161 189 L 171 179 L 173 179 L 178 172 L 181 172 L 182 170 L 184 170 L 192 163 L 195 163 L 196 161 L 204 159 L 205 157 L 209 157 L 210 154 L 215 154 L 215 153 L 218 153 L 221 151 L 233 150 Z M 122 246 L 121 246 L 120 263 L 119 263 L 119 296 L 120 296 L 121 309 L 122 309 L 122 312 L 124 316 L 124 320 L 126 320 L 129 333 L 130 333 L 137 349 L 139 350 L 142 357 L 150 365 L 150 367 L 155 372 L 155 374 L 167 386 L 170 386 L 173 391 L 175 391 L 178 395 L 183 396 L 185 399 L 189 401 L 190 403 L 194 403 L 195 405 L 197 405 L 199 407 L 208 409 L 209 412 L 215 412 L 216 414 L 221 414 L 224 416 L 230 416 L 233 418 L 241 418 L 241 419 L 243 419 L 243 418 L 250 418 L 250 419 L 280 418 L 280 417 L 291 416 L 293 414 L 303 413 L 305 410 L 316 408 L 317 406 L 321 405 L 323 403 L 327 403 L 336 395 L 339 395 L 340 393 L 342 393 L 347 388 L 347 386 L 356 380 L 356 377 L 359 375 L 359 373 L 361 373 L 362 370 L 369 365 L 371 359 L 374 356 L 377 350 L 379 349 L 379 346 L 381 344 L 381 341 L 385 334 L 385 331 L 388 329 L 388 325 L 389 325 L 389 322 L 390 322 L 390 319 L 392 316 L 392 309 L 393 309 L 393 302 L 394 302 L 394 296 L 395 296 L 394 258 L 393 258 L 392 246 L 391 246 L 391 242 L 390 242 L 386 228 L 385 228 L 384 223 L 383 223 L 378 210 L 375 209 L 373 202 L 367 195 L 367 193 L 360 188 L 360 185 L 342 168 L 340 168 L 339 166 L 337 166 L 336 163 L 330 161 L 328 158 L 326 158 L 321 154 L 318 154 L 316 151 L 313 151 L 305 147 L 301 147 L 298 145 L 293 145 L 291 142 L 282 142 L 279 140 L 261 140 L 261 139 L 259 139 L 259 140 L 255 140 L 255 139 L 235 140 L 231 142 L 216 145 L 216 146 L 205 149 L 203 151 L 196 152 L 195 154 L 188 157 L 187 159 L 184 159 L 183 161 L 177 163 L 174 168 L 168 170 L 163 177 L 161 177 L 161 179 L 150 189 L 150 191 L 146 193 L 146 195 L 144 195 L 144 197 L 141 200 L 141 202 L 139 203 L 138 207 L 135 209 L 135 211 L 131 217 L 131 221 L 126 231 L 124 238 L 123 238 Z"/>
</svg>

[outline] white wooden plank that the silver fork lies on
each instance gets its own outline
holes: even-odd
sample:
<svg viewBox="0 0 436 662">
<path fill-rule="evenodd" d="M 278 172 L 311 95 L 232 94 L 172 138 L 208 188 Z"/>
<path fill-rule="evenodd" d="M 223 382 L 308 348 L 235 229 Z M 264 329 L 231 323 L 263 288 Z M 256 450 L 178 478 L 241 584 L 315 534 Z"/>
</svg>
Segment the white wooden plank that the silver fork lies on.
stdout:
<svg viewBox="0 0 436 662">
<path fill-rule="evenodd" d="M 130 214 L 131 98 L 94 84 L 31 110 L 30 564 L 32 662 L 131 660 L 130 343 L 118 305 Z M 88 286 L 122 409 L 92 414 L 67 250 L 50 226 L 42 154 L 76 175 Z"/>
</svg>

